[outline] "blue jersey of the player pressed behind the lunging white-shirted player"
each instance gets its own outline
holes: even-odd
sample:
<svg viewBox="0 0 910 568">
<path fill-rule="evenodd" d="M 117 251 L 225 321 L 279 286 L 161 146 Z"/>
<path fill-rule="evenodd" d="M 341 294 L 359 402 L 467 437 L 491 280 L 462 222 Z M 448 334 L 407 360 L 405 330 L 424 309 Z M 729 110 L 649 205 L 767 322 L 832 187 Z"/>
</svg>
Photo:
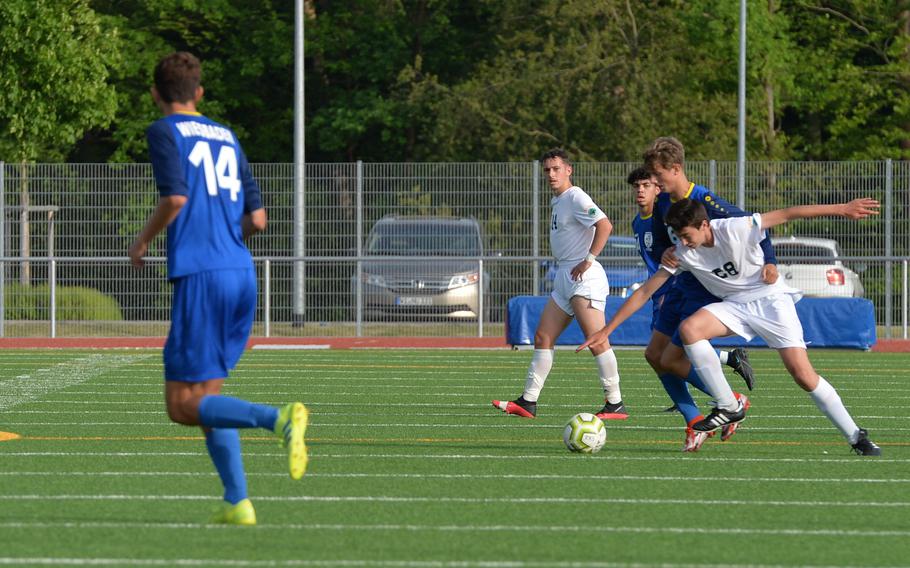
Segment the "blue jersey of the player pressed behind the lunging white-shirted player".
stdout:
<svg viewBox="0 0 910 568">
<path fill-rule="evenodd" d="M 729 203 L 723 198 L 718 197 L 707 187 L 696 185 L 694 183 L 689 184 L 689 191 L 686 192 L 686 195 L 683 197 L 692 199 L 694 201 L 700 201 L 705 206 L 705 210 L 708 212 L 708 219 L 747 217 L 752 214 L 743 211 L 732 203 Z M 652 231 L 654 233 L 656 244 L 653 246 L 653 248 L 657 249 L 655 254 L 657 254 L 658 262 L 660 256 L 663 255 L 664 250 L 666 250 L 666 248 L 669 246 L 676 246 L 676 243 L 678 242 L 676 235 L 673 233 L 673 229 L 664 223 L 667 212 L 670 210 L 670 206 L 673 205 L 673 203 L 675 203 L 675 201 L 670 198 L 670 194 L 661 193 L 657 196 L 657 201 L 654 204 L 654 211 L 656 212 L 656 215 L 653 215 L 654 221 Z M 764 240 L 761 241 L 761 247 L 765 255 L 765 264 L 777 264 L 777 258 L 774 256 L 774 248 L 771 246 L 771 238 L 769 236 L 766 236 Z M 710 298 L 714 297 L 711 296 L 707 290 L 705 290 L 705 287 L 702 286 L 694 276 L 692 276 L 691 272 L 681 272 L 676 277 L 676 287 L 678 289 L 681 289 L 688 298 L 693 298 L 699 295 Z"/>
</svg>

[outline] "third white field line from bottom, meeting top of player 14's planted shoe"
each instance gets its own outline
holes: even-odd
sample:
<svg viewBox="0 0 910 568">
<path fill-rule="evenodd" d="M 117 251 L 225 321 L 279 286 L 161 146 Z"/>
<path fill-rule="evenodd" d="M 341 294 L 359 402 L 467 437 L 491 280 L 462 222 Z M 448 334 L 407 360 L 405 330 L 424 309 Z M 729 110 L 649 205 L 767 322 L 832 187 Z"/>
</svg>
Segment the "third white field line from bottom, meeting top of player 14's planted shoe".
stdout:
<svg viewBox="0 0 910 568">
<path fill-rule="evenodd" d="M 211 495 L 0 495 L 10 501 L 212 501 Z M 739 499 L 623 499 L 598 497 L 397 497 L 397 496 L 349 496 L 349 495 L 291 495 L 253 497 L 254 501 L 280 503 L 462 503 L 479 505 L 500 505 L 503 503 L 523 504 L 588 504 L 588 505 L 720 505 L 754 507 L 910 507 L 910 502 L 869 502 L 869 501 L 762 501 Z"/>
</svg>

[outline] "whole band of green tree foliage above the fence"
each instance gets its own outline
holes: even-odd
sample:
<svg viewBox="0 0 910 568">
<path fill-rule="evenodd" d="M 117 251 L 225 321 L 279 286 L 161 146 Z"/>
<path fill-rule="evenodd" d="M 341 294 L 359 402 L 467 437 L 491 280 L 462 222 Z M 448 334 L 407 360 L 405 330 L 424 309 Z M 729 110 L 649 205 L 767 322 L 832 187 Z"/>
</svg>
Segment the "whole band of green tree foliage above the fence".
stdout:
<svg viewBox="0 0 910 568">
<path fill-rule="evenodd" d="M 668 134 L 692 158 L 732 159 L 738 4 L 307 0 L 307 159 L 529 160 L 558 145 L 636 160 Z M 748 8 L 750 159 L 910 157 L 910 0 Z M 251 160 L 291 160 L 292 2 L 8 0 L 0 22 L 6 159 L 16 144 L 32 159 L 146 159 L 151 70 L 189 50 L 202 110 Z"/>
</svg>

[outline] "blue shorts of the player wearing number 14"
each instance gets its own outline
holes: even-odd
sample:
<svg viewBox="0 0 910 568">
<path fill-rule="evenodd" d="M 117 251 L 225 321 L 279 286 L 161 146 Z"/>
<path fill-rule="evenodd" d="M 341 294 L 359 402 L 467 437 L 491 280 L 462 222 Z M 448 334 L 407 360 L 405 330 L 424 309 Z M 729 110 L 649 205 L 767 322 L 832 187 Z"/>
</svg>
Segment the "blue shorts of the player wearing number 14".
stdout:
<svg viewBox="0 0 910 568">
<path fill-rule="evenodd" d="M 227 378 L 250 337 L 256 315 L 256 271 L 210 270 L 174 280 L 164 378 Z"/>
</svg>

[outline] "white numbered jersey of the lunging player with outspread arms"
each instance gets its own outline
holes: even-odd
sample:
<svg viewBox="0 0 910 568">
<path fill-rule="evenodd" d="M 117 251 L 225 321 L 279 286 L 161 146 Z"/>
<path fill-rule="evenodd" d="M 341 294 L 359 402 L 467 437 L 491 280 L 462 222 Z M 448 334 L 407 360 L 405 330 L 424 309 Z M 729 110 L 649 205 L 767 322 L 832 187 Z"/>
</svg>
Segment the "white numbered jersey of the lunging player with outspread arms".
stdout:
<svg viewBox="0 0 910 568">
<path fill-rule="evenodd" d="M 713 219 L 711 231 L 713 247 L 702 245 L 692 249 L 679 243 L 675 251 L 680 268 L 690 271 L 709 292 L 734 302 L 751 302 L 771 294 L 801 295 L 780 278 L 774 284 L 762 281 L 765 256 L 759 243 L 765 238 L 765 231 L 761 228 L 760 214 Z"/>
</svg>

